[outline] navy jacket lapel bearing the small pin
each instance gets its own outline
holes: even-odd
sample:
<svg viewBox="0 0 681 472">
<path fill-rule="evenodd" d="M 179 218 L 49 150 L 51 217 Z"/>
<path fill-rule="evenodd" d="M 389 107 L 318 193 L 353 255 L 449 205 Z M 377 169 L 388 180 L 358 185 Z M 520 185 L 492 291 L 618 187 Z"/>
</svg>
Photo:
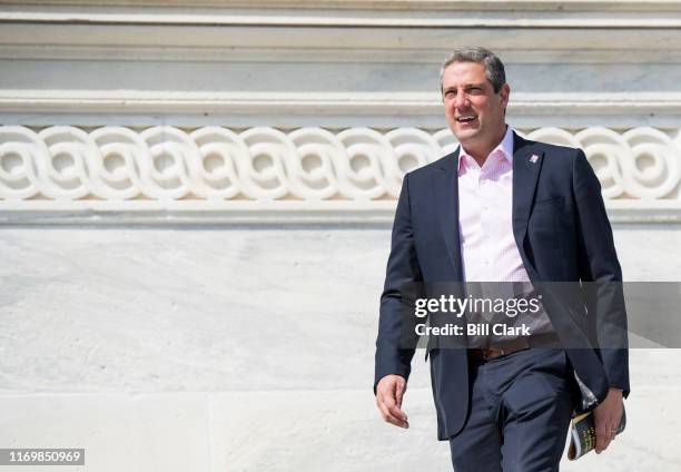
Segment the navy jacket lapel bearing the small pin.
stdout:
<svg viewBox="0 0 681 472">
<path fill-rule="evenodd" d="M 544 154 L 534 149 L 532 145 L 532 141 L 521 138 L 515 132 L 513 134 L 513 236 L 525 266 L 529 266 L 529 259 L 524 250 L 527 222 L 544 159 Z M 530 273 L 534 272 L 534 267 L 529 266 L 527 268 L 532 268 L 532 271 L 527 271 L 532 277 L 534 274 Z"/>
</svg>

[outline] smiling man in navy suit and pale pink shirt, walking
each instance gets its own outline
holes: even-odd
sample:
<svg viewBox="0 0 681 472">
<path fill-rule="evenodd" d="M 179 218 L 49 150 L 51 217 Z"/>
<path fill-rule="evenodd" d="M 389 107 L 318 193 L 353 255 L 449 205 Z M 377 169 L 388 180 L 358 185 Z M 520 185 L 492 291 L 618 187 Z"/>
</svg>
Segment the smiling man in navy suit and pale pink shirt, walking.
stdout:
<svg viewBox="0 0 681 472">
<path fill-rule="evenodd" d="M 540 314 L 525 319 L 530 335 L 428 344 L 438 439 L 450 441 L 457 472 L 557 471 L 573 411 L 594 410 L 600 453 L 629 393 L 622 274 L 601 187 L 581 149 L 506 126 L 510 87 L 491 51 L 456 50 L 441 86 L 460 147 L 403 181 L 381 297 L 376 404 L 386 422 L 408 427 L 406 285 L 529 284 L 543 294 Z"/>
</svg>

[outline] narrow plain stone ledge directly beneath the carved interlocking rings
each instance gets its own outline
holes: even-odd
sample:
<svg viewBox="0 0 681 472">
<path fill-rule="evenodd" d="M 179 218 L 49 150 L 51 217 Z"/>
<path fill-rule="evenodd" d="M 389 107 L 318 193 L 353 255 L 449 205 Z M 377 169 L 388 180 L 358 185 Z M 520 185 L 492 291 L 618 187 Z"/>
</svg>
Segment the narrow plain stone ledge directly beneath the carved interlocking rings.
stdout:
<svg viewBox="0 0 681 472">
<path fill-rule="evenodd" d="M 324 203 L 205 204 L 201 201 L 160 203 L 36 203 L 21 205 L 0 201 L 0 226 L 344 226 L 389 227 L 395 203 L 366 206 Z M 638 201 L 608 203 L 613 224 L 678 224 L 681 204 L 649 205 Z"/>
</svg>

